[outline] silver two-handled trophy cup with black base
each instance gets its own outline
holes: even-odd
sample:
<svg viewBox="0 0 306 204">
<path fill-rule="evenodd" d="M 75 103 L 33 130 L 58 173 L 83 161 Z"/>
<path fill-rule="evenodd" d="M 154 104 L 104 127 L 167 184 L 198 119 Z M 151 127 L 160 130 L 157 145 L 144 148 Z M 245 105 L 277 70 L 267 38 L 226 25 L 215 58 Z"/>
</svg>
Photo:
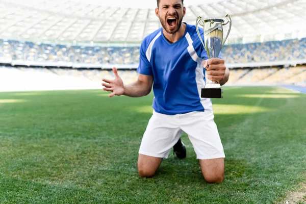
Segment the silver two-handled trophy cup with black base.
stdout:
<svg viewBox="0 0 306 204">
<path fill-rule="evenodd" d="M 208 58 L 218 58 L 221 52 L 221 48 L 223 47 L 228 35 L 230 34 L 232 28 L 232 19 L 229 14 L 225 16 L 227 18 L 227 22 L 224 22 L 224 19 L 220 18 L 210 18 L 202 20 L 201 16 L 198 16 L 196 19 L 196 32 L 207 52 Z M 227 35 L 223 40 L 223 25 L 226 25 L 230 22 L 230 28 L 228 29 Z M 204 41 L 203 43 L 202 37 L 200 35 L 198 24 L 203 27 Z M 202 98 L 222 98 L 223 90 L 218 82 L 209 80 L 205 87 L 201 90 Z"/>
</svg>

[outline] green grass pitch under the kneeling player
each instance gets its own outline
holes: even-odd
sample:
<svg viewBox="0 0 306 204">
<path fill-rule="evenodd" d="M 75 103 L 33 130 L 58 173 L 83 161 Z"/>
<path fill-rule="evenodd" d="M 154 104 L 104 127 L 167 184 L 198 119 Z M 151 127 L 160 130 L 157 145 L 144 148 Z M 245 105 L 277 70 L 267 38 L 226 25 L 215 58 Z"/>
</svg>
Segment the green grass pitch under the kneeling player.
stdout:
<svg viewBox="0 0 306 204">
<path fill-rule="evenodd" d="M 207 184 L 186 134 L 157 175 L 137 173 L 153 95 L 0 93 L 0 203 L 278 203 L 305 181 L 306 95 L 228 87 L 214 99 L 225 181 Z"/>
</svg>

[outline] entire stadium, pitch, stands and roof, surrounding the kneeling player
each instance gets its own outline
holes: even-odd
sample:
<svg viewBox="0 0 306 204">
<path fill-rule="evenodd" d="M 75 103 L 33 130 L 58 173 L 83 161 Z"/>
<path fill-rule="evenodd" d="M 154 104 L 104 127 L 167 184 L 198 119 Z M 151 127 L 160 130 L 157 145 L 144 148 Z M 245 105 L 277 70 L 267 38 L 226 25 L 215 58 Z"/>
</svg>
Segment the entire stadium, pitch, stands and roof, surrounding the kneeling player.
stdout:
<svg viewBox="0 0 306 204">
<path fill-rule="evenodd" d="M 306 203 L 306 0 L 184 5 L 190 24 L 232 16 L 230 81 L 212 99 L 224 183 L 203 182 L 186 133 L 186 159 L 171 149 L 140 178 L 154 94 L 102 90 L 114 66 L 137 79 L 140 43 L 161 27 L 156 0 L 0 0 L 0 204 Z"/>
</svg>

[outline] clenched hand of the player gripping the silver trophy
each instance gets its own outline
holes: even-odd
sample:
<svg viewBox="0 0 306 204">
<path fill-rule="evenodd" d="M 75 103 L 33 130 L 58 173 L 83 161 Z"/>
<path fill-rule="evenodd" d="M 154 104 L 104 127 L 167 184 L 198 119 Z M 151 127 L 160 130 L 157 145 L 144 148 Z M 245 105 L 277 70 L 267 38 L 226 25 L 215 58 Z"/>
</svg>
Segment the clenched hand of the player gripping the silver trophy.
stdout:
<svg viewBox="0 0 306 204">
<path fill-rule="evenodd" d="M 203 61 L 203 66 L 207 70 L 208 80 L 217 81 L 221 86 L 228 81 L 230 70 L 225 66 L 223 59 L 212 58 Z"/>
</svg>

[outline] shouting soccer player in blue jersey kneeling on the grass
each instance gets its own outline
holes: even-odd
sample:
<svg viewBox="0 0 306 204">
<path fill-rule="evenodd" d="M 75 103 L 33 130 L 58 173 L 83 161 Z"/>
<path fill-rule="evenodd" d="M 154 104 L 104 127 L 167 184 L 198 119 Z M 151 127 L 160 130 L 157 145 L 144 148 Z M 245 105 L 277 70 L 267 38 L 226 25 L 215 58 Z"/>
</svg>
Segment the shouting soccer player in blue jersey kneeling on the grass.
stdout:
<svg viewBox="0 0 306 204">
<path fill-rule="evenodd" d="M 172 147 L 183 145 L 179 139 L 184 131 L 205 180 L 221 183 L 224 179 L 223 146 L 214 122 L 211 99 L 201 98 L 200 92 L 206 84 L 206 71 L 208 79 L 220 85 L 227 82 L 230 73 L 224 60 L 208 60 L 195 26 L 182 23 L 186 13 L 183 1 L 157 0 L 156 15 L 162 28 L 141 43 L 137 81 L 123 85 L 117 69 L 113 68 L 115 79 L 103 79 L 103 90 L 112 92 L 110 97 L 141 97 L 149 94 L 153 86 L 154 112 L 139 149 L 140 176 L 154 176 Z M 203 35 L 203 30 L 200 33 Z"/>
</svg>

